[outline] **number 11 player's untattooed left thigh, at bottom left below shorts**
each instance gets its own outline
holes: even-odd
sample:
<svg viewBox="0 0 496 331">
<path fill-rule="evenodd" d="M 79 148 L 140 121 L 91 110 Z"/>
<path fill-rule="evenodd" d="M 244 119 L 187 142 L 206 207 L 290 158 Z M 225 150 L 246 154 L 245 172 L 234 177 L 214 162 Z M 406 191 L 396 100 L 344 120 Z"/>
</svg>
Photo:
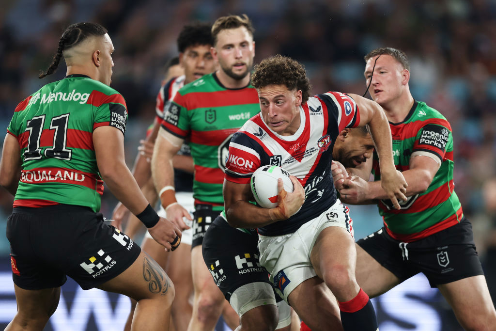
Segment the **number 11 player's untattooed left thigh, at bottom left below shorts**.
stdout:
<svg viewBox="0 0 496 331">
<path fill-rule="evenodd" d="M 59 305 L 60 287 L 27 290 L 14 284 L 18 314 L 23 320 L 47 319 Z"/>
</svg>

